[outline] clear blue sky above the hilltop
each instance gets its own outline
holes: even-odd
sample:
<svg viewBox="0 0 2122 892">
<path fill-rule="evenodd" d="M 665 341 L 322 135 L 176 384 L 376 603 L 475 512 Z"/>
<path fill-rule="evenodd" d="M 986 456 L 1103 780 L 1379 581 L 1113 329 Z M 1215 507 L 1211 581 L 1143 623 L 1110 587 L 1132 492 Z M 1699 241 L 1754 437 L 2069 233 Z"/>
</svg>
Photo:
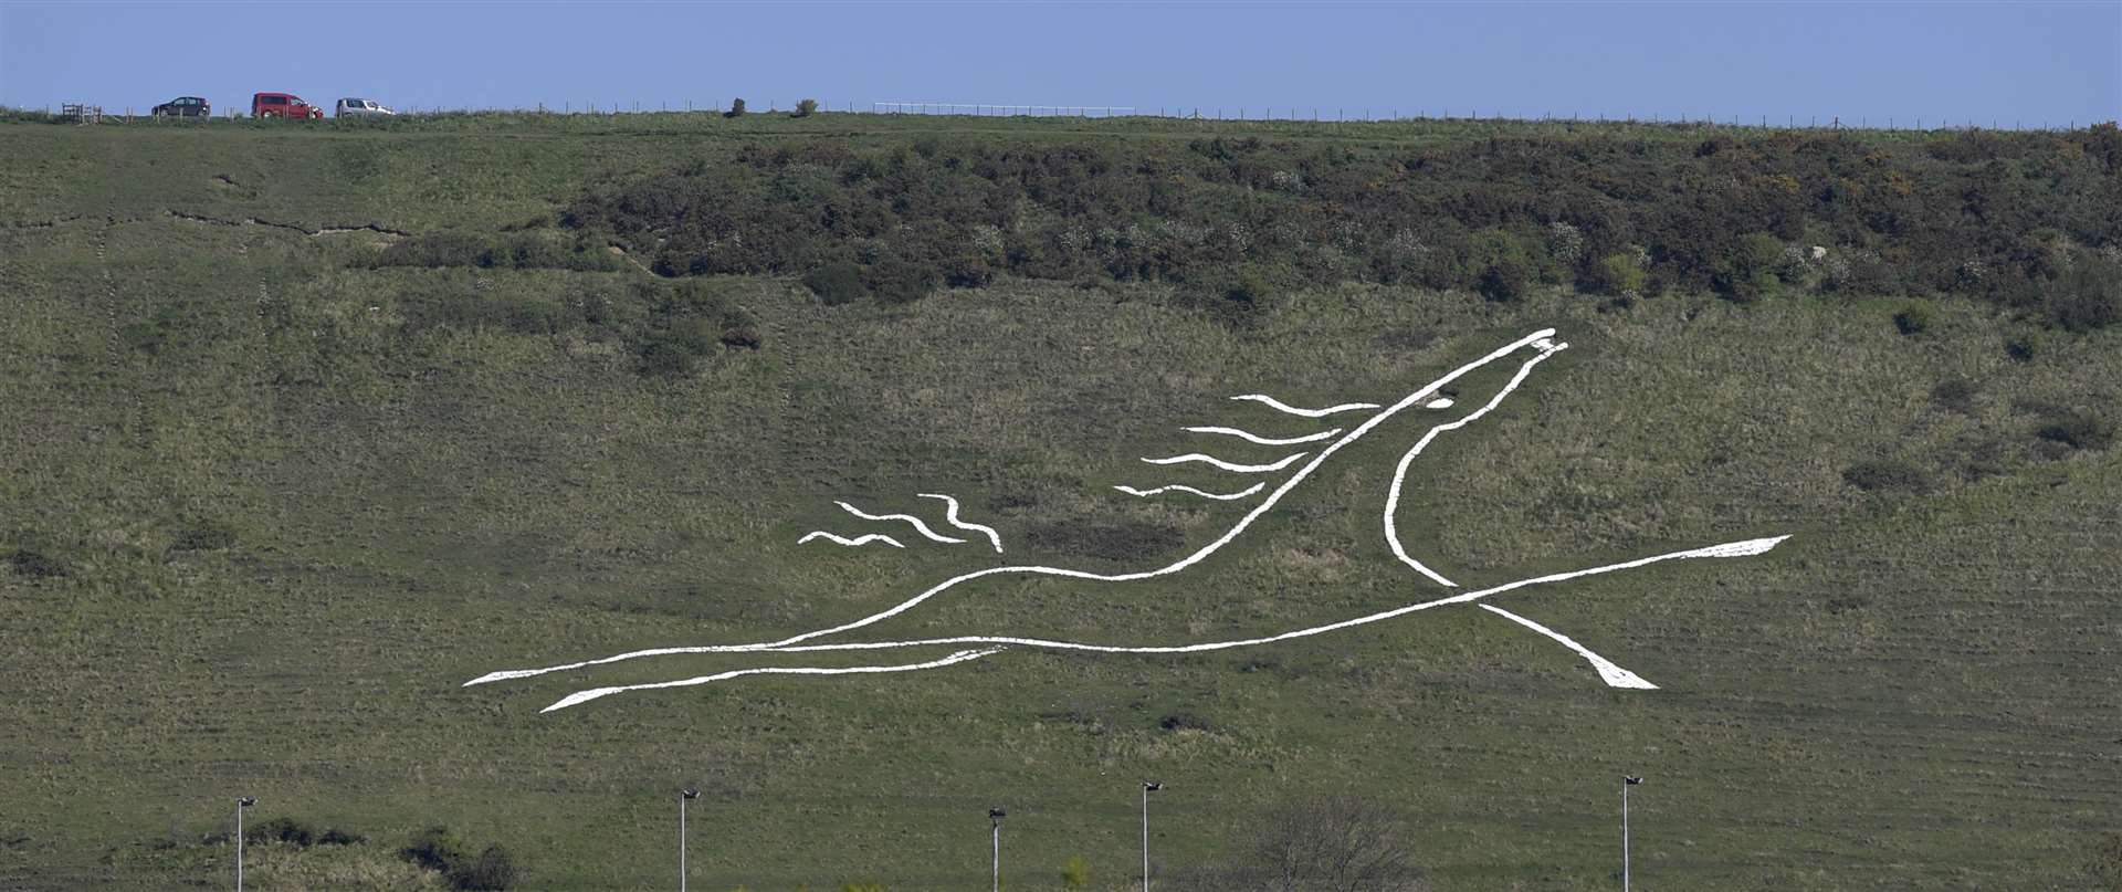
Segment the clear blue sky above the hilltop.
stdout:
<svg viewBox="0 0 2122 892">
<path fill-rule="evenodd" d="M 0 0 L 0 104 L 853 102 L 1897 125 L 2122 115 L 2122 0 L 681 4 Z"/>
</svg>

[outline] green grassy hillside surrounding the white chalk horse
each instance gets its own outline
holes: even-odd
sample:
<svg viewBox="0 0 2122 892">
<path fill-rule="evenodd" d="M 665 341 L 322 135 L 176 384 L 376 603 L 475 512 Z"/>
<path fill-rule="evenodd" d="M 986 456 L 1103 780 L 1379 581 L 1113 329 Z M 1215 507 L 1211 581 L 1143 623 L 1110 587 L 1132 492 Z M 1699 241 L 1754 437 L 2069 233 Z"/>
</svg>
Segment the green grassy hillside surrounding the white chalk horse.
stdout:
<svg viewBox="0 0 2122 892">
<path fill-rule="evenodd" d="M 1089 888 L 1120 890 L 1150 777 L 1167 786 L 1154 847 L 1173 879 L 1231 862 L 1260 813 L 1324 788 L 1394 805 L 1430 888 L 1589 890 L 1619 873 L 1621 773 L 1649 777 L 1632 799 L 1640 888 L 2099 888 L 2101 839 L 2122 833 L 2116 327 L 2069 331 L 2037 304 L 1937 295 L 1920 276 L 1751 302 L 1685 276 L 1625 302 L 1570 274 L 1534 274 L 1513 299 L 1277 280 L 1233 319 L 1178 278 L 1004 268 L 906 304 L 825 304 L 800 270 L 666 280 L 634 263 L 639 231 L 609 238 L 637 248 L 615 255 L 605 229 L 567 225 L 598 183 L 734 166 L 760 144 L 1180 151 L 1248 134 L 1364 151 L 1717 136 L 842 115 L 0 123 L 0 888 L 225 886 L 233 852 L 208 839 L 240 794 L 259 796 L 253 820 L 367 837 L 255 847 L 259 888 L 433 886 L 395 850 L 435 824 L 507 847 L 520 888 L 668 888 L 690 784 L 702 890 L 978 888 L 991 805 L 1010 809 L 1010 888 L 1063 888 L 1082 856 Z M 2054 189 L 2114 189 L 2099 176 Z M 2073 251 L 2090 263 L 2107 246 Z M 836 499 L 938 522 L 917 493 L 951 493 L 1010 563 L 1161 565 L 1243 505 L 1112 491 L 1235 488 L 1137 459 L 1282 454 L 1188 425 L 1314 429 L 1227 397 L 1392 401 L 1538 327 L 1570 348 L 1426 452 L 1407 542 L 1479 586 L 1791 533 L 1757 559 L 1498 601 L 1664 690 L 1611 690 L 1471 607 L 1216 654 L 1012 650 L 558 714 L 539 709 L 760 661 L 460 686 L 794 635 L 1002 561 Z M 1407 444 L 1367 442 L 1199 573 L 993 586 L 900 631 L 1167 641 L 1434 597 L 1377 522 Z M 798 546 L 813 529 L 910 548 Z"/>
</svg>

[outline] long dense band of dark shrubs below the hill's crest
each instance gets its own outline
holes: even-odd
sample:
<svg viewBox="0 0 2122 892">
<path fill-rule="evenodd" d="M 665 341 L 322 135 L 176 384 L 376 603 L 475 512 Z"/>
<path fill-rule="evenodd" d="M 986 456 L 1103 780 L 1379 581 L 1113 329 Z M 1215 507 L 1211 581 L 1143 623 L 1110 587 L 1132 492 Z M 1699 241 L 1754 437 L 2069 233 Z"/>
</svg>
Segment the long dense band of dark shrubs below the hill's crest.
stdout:
<svg viewBox="0 0 2122 892">
<path fill-rule="evenodd" d="M 1785 289 L 1954 293 L 2082 329 L 2111 325 L 2122 302 L 2122 136 L 2109 123 L 1432 147 L 813 140 L 607 178 L 562 223 L 666 276 L 802 274 L 825 299 L 910 299 L 997 272 L 1178 282 L 1235 304 L 1339 280 L 1494 299 L 1566 282 L 1738 302 Z M 2056 297 L 2088 261 L 2107 263 L 2094 306 Z"/>
</svg>

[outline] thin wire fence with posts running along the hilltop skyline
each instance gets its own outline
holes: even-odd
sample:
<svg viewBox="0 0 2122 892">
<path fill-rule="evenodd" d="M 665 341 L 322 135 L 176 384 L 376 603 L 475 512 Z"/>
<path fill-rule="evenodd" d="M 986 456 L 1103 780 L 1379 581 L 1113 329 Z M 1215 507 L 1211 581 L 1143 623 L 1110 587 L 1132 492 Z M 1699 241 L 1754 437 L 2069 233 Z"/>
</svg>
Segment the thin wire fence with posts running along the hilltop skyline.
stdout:
<svg viewBox="0 0 2122 892">
<path fill-rule="evenodd" d="M 327 108 L 327 106 L 318 106 Z M 768 100 L 764 108 L 749 106 L 745 113 L 783 115 L 794 113 L 798 104 L 783 104 L 781 100 Z M 15 108 L 17 113 L 32 113 L 34 108 Z M 45 115 L 53 115 L 53 106 L 42 106 Z M 698 102 L 698 100 L 628 100 L 628 102 L 601 102 L 601 100 L 560 100 L 560 102 L 537 102 L 530 106 L 403 106 L 395 115 L 401 117 L 446 117 L 446 115 L 700 115 L 717 113 L 732 115 L 732 108 L 719 102 Z M 2099 123 L 2097 119 L 2086 121 L 2029 121 L 2029 119 L 2003 119 L 2003 117 L 1923 117 L 1923 115 L 1889 115 L 1889 117 L 1842 117 L 1842 115 L 1615 115 L 1615 113 L 1541 113 L 1538 117 L 1521 113 L 1500 113 L 1481 108 L 1347 108 L 1347 106 L 1093 106 L 1093 104 L 1027 104 L 1027 102 L 932 102 L 932 100 L 870 100 L 870 102 L 823 102 L 815 106 L 819 115 L 885 115 L 885 117 L 1059 117 L 1059 119 L 1154 119 L 1154 121 L 1260 121 L 1260 123 L 1458 123 L 1458 121 L 1479 121 L 1479 123 L 1619 123 L 1619 125 L 1676 125 L 1676 127 L 1751 127 L 1751 130 L 1906 130 L 1906 132 L 1946 132 L 1946 130 L 1997 130 L 1997 132 L 2073 132 L 2082 125 Z M 123 108 L 123 113 L 108 106 L 91 104 L 62 104 L 59 119 L 79 119 L 83 123 L 93 123 L 98 119 L 151 119 L 146 110 Z M 214 119 L 242 119 L 244 108 L 223 108 Z"/>
</svg>

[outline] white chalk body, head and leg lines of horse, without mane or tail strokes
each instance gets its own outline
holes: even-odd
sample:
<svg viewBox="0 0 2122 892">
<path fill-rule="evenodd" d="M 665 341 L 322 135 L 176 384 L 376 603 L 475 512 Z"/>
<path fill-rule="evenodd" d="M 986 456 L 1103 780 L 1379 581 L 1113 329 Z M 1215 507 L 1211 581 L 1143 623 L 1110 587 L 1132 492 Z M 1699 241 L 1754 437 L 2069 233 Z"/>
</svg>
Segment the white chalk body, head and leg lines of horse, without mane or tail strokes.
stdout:
<svg viewBox="0 0 2122 892">
<path fill-rule="evenodd" d="M 906 599 L 906 601 L 902 601 L 902 603 L 898 603 L 898 605 L 893 605 L 889 610 L 870 614 L 866 618 L 859 618 L 859 620 L 853 620 L 853 622 L 845 622 L 845 624 L 838 624 L 838 627 L 830 627 L 830 629 L 819 629 L 819 631 L 811 631 L 811 633 L 792 635 L 792 637 L 785 637 L 785 639 L 779 639 L 779 641 L 734 644 L 734 646 L 647 648 L 647 650 L 634 650 L 634 652 L 603 656 L 603 658 L 594 658 L 594 661 L 577 661 L 577 663 L 539 667 L 539 669 L 503 669 L 503 671 L 492 671 L 492 673 L 480 675 L 480 677 L 475 677 L 471 682 L 465 682 L 465 686 L 469 688 L 469 686 L 475 686 L 475 684 L 490 684 L 490 682 L 516 680 L 516 677 L 535 677 L 535 675 L 545 675 L 545 673 L 554 673 L 554 671 L 571 671 L 571 669 L 584 669 L 584 667 L 622 663 L 622 661 L 632 661 L 632 658 L 671 656 L 671 654 L 889 650 L 889 648 L 923 648 L 923 646 L 942 646 L 942 644 L 991 644 L 991 646 L 1004 646 L 1004 648 L 1006 646 L 1029 646 L 1029 648 L 1050 648 L 1050 650 L 1129 652 L 1129 654 L 1178 654 L 1178 652 L 1227 650 L 1227 648 L 1246 648 L 1246 646 L 1260 646 L 1260 644 L 1288 641 L 1288 639 L 1297 639 L 1297 637 L 1322 635 L 1322 633 L 1330 633 L 1330 631 L 1339 631 L 1339 629 L 1350 629 L 1350 627 L 1358 627 L 1358 624 L 1381 622 L 1381 620 L 1388 620 L 1388 618 L 1407 616 L 1407 614 L 1422 612 L 1422 610 L 1432 610 L 1432 607 L 1443 607 L 1443 605 L 1454 605 L 1454 603 L 1471 603 L 1471 601 L 1477 601 L 1477 599 L 1483 599 L 1483 597 L 1490 597 L 1490 595 L 1500 595 L 1500 593 L 1507 593 L 1507 590 L 1526 588 L 1526 586 L 1534 586 L 1534 584 L 1564 582 L 1564 580 L 1575 580 L 1575 578 L 1583 578 L 1583 576 L 1611 573 L 1611 571 L 1619 571 L 1619 569 L 1634 569 L 1634 567 L 1645 567 L 1645 565 L 1659 563 L 1659 561 L 1723 559 L 1723 556 L 1763 554 L 1763 552 L 1776 548 L 1778 544 L 1782 544 L 1785 539 L 1789 539 L 1789 535 L 1761 537 L 1761 539 L 1742 539 L 1742 542 L 1727 542 L 1727 544 L 1717 544 L 1717 546 L 1706 546 L 1706 548 L 1691 548 L 1691 550 L 1681 550 L 1681 552 L 1655 554 L 1655 556 L 1636 559 L 1636 561 L 1623 561 L 1623 563 L 1615 563 L 1615 565 L 1589 567 L 1589 569 L 1579 569 L 1579 571 L 1568 571 L 1568 573 L 1549 573 L 1549 576 L 1538 576 L 1538 578 L 1507 582 L 1507 584 L 1492 586 L 1492 588 L 1460 593 L 1460 595 L 1451 595 L 1451 597 L 1443 597 L 1443 599 L 1420 601 L 1420 603 L 1396 607 L 1396 610 L 1388 610 L 1388 612 L 1358 616 L 1354 620 L 1341 620 L 1341 622 L 1330 622 L 1330 624 L 1322 624 L 1322 627 L 1299 629 L 1299 631 L 1292 631 L 1292 633 L 1256 637 L 1256 639 L 1207 641 L 1207 644 L 1190 644 L 1190 646 L 1150 646 L 1150 648 L 1097 646 L 1097 644 L 1078 644 L 1078 641 L 1048 641 L 1048 639 L 999 637 L 999 635 L 963 635 L 963 637 L 938 637 L 938 639 L 919 639 L 919 641 L 849 641 L 849 644 L 808 644 L 808 646 L 802 644 L 802 641 L 811 641 L 811 639 L 817 639 L 817 637 L 838 635 L 838 633 L 845 633 L 845 631 L 853 631 L 853 629 L 862 629 L 862 627 L 887 620 L 891 616 L 898 616 L 898 614 L 904 614 L 906 610 L 917 607 L 919 603 L 923 603 L 923 601 L 927 601 L 927 599 L 932 599 L 932 597 L 936 597 L 936 595 L 940 595 L 940 593 L 944 593 L 944 590 L 949 590 L 949 588 L 953 588 L 953 586 L 957 586 L 961 582 L 978 580 L 978 578 L 985 578 L 985 576 L 1023 573 L 1023 576 L 1061 576 L 1061 578 L 1093 580 L 1093 582 L 1131 582 L 1131 580 L 1148 580 L 1148 578 L 1156 578 L 1156 576 L 1178 573 L 1178 571 L 1182 571 L 1182 569 L 1186 569 L 1186 567 L 1190 567 L 1190 565 L 1207 559 L 1210 554 L 1214 554 L 1222 546 L 1231 544 L 1233 539 L 1237 539 L 1237 535 L 1241 535 L 1248 527 L 1252 527 L 1254 520 L 1258 520 L 1269 510 L 1273 510 L 1282 501 L 1282 497 L 1288 495 L 1299 482 L 1303 482 L 1307 476 L 1311 476 L 1311 471 L 1316 471 L 1320 465 L 1324 465 L 1324 461 L 1328 457 L 1333 457 L 1335 452 L 1339 452 L 1343 446 L 1360 440 L 1364 433 L 1369 433 L 1377 425 L 1386 423 L 1388 418 L 1396 416 L 1398 412 L 1407 410 L 1409 406 L 1415 406 L 1417 401 L 1434 395 L 1439 389 L 1443 389 L 1445 384 L 1458 380 L 1460 376 L 1466 376 L 1466 374 L 1471 374 L 1471 372 L 1475 372 L 1475 370 L 1479 370 L 1479 367 L 1483 367 L 1483 365 L 1488 365 L 1488 363 L 1492 363 L 1492 361 L 1496 361 L 1500 357 L 1507 357 L 1507 355 L 1511 355 L 1511 353 L 1515 353 L 1515 350 L 1519 350 L 1524 346 L 1538 348 L 1541 353 L 1534 355 L 1532 359 L 1524 361 L 1519 365 L 1517 374 L 1511 378 L 1511 382 L 1498 393 L 1498 397 L 1492 399 L 1481 410 L 1477 410 L 1475 416 L 1490 412 L 1496 404 L 1500 404 L 1502 395 L 1515 391 L 1517 384 L 1521 384 L 1526 380 L 1526 376 L 1530 374 L 1530 370 L 1534 365 L 1538 365 L 1541 361 L 1545 361 L 1553 353 L 1560 353 L 1562 348 L 1568 346 L 1568 344 L 1555 344 L 1555 342 L 1551 342 L 1549 338 L 1553 333 L 1555 333 L 1555 329 L 1541 329 L 1541 331 L 1534 331 L 1530 336 L 1524 336 L 1524 338 L 1519 338 L 1519 340 L 1515 340 L 1515 342 L 1511 342 L 1511 344 L 1507 344 L 1507 346 L 1502 346 L 1502 348 L 1498 348 L 1498 350 L 1494 350 L 1494 353 L 1490 353 L 1490 355 L 1485 355 L 1481 359 L 1475 359 L 1475 361 L 1471 361 L 1466 365 L 1460 365 L 1460 367 L 1451 370 L 1449 374 L 1432 380 L 1430 384 L 1426 384 L 1420 391 L 1407 395 L 1405 399 L 1396 401 L 1394 406 L 1377 412 L 1375 416 L 1371 416 L 1369 421 L 1364 421 L 1362 425 L 1358 425 L 1354 431 L 1350 431 L 1341 440 L 1337 440 L 1337 442 L 1328 444 L 1324 450 L 1320 450 L 1307 465 L 1303 465 L 1294 476 L 1290 476 L 1273 493 L 1269 493 L 1267 499 L 1263 499 L 1246 516 L 1241 516 L 1224 535 L 1220 535 L 1218 539 L 1210 542 L 1207 546 L 1195 550 L 1193 554 L 1188 554 L 1188 556 L 1184 556 L 1184 559 L 1180 559 L 1180 561 L 1176 561 L 1171 565 L 1159 567 L 1159 569 L 1135 571 L 1135 573 L 1089 573 L 1089 571 L 1076 571 L 1076 569 L 1063 569 L 1063 567 L 989 567 L 989 569 L 970 571 L 970 573 L 961 573 L 961 576 L 949 578 L 949 580 L 944 580 L 944 582 L 940 582 L 940 584 L 936 584 L 936 586 L 932 586 L 932 588 L 927 588 L 927 590 L 923 590 L 923 593 L 919 593 L 919 595 L 915 595 L 915 597 L 910 597 L 910 599 Z M 1258 397 L 1260 401 L 1280 406 L 1271 397 L 1260 397 L 1260 395 L 1233 397 L 1233 399 L 1250 399 L 1250 397 Z M 1316 412 L 1337 412 L 1337 410 L 1354 408 L 1354 406 L 1367 406 L 1367 404 L 1347 404 L 1347 406 L 1337 406 L 1333 410 L 1316 410 Z M 1284 408 L 1288 408 L 1288 406 L 1284 406 Z M 1292 410 L 1292 412 L 1305 412 L 1305 410 Z M 1449 425 L 1449 429 L 1458 429 L 1458 427 L 1464 427 L 1464 423 L 1468 423 L 1468 421 L 1473 421 L 1473 416 L 1462 418 L 1460 423 L 1447 423 L 1447 425 Z M 1409 454 L 1403 454 L 1403 463 L 1401 463 L 1401 467 L 1394 474 L 1392 493 L 1388 495 L 1388 501 L 1390 501 L 1392 508 L 1396 508 L 1396 503 L 1398 503 L 1398 493 L 1401 493 L 1401 486 L 1405 484 L 1405 467 L 1407 467 L 1407 463 L 1411 461 L 1413 454 L 1417 454 L 1422 448 L 1426 448 L 1428 442 L 1434 440 L 1437 433 L 1441 433 L 1443 429 L 1447 429 L 1447 425 L 1432 427 L 1428 433 L 1424 433 L 1424 438 L 1417 442 L 1417 446 L 1409 450 Z M 1294 461 L 1294 457 L 1286 459 L 1286 461 Z M 851 505 L 842 503 L 842 508 L 855 512 Z M 1392 525 L 1392 508 L 1388 508 L 1388 512 L 1386 512 L 1388 525 Z M 857 512 L 857 516 L 859 516 L 859 512 Z M 1394 546 L 1396 556 L 1403 556 L 1403 561 L 1411 563 L 1415 569 L 1424 569 L 1426 571 L 1426 567 L 1422 567 L 1417 561 L 1413 561 L 1411 556 L 1405 556 L 1405 548 L 1401 548 L 1401 544 L 1398 544 L 1396 527 L 1390 529 L 1388 539 Z M 1432 571 L 1426 571 L 1426 576 L 1437 578 Z M 1488 605 L 1483 605 L 1483 607 L 1488 607 Z M 1555 631 L 1551 631 L 1547 627 L 1541 627 L 1538 622 L 1532 622 L 1532 620 L 1521 618 L 1517 614 L 1502 612 L 1500 607 L 1496 607 L 1494 612 L 1500 614 L 1500 616 L 1504 616 L 1504 618 L 1509 618 L 1509 620 L 1513 620 L 1513 622 L 1517 622 L 1517 624 L 1521 624 L 1521 627 L 1526 627 L 1526 629 L 1532 629 L 1536 633 L 1543 633 L 1543 635 L 1547 635 L 1547 637 L 1551 637 L 1551 639 L 1568 646 L 1579 656 L 1592 661 L 1592 665 L 1600 671 L 1600 677 L 1606 684 L 1611 684 L 1611 686 L 1634 688 L 1636 684 L 1632 684 L 1632 682 L 1640 682 L 1642 686 L 1655 688 L 1649 682 L 1642 682 L 1640 675 L 1630 673 L 1628 669 L 1621 669 L 1621 667 L 1613 665 L 1611 661 L 1604 661 L 1602 656 L 1594 654 L 1592 650 L 1583 648 L 1581 644 L 1577 644 L 1577 641 L 1572 641 L 1572 639 L 1568 639 L 1568 637 L 1564 637 L 1564 635 L 1560 635 L 1560 633 L 1555 633 Z M 980 656 L 989 656 L 989 654 L 993 654 L 993 650 L 987 650 L 987 652 L 961 650 L 961 652 L 949 656 L 946 661 L 961 663 L 966 658 L 980 658 Z M 949 665 L 946 661 L 936 661 L 934 665 Z M 700 677 L 677 680 L 677 682 L 654 682 L 654 684 L 622 686 L 622 688 L 598 688 L 594 692 L 594 697 L 581 697 L 581 694 L 592 694 L 592 692 L 577 692 L 577 694 L 571 694 L 569 699 L 562 699 L 560 703 L 554 703 L 545 711 L 562 709 L 562 707 L 569 707 L 569 705 L 586 703 L 588 699 L 607 697 L 607 694 L 624 692 L 624 690 L 679 688 L 679 686 L 707 684 L 707 682 L 715 682 L 715 680 L 741 677 L 741 675 L 755 675 L 755 673 L 855 673 L 855 671 L 872 671 L 874 673 L 874 671 L 912 671 L 912 669 L 925 669 L 925 667 L 934 667 L 934 665 L 851 667 L 851 669 L 736 669 L 736 671 L 726 671 L 726 673 L 715 673 L 715 675 L 700 675 Z"/>
</svg>

